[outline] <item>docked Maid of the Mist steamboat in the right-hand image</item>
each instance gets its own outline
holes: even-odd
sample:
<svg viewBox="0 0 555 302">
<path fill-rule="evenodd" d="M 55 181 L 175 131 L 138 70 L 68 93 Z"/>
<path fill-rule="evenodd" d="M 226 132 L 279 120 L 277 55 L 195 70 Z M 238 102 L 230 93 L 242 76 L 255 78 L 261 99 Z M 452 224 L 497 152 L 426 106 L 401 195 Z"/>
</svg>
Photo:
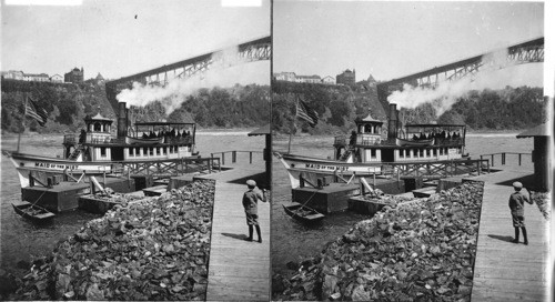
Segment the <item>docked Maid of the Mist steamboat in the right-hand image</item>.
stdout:
<svg viewBox="0 0 555 302">
<path fill-rule="evenodd" d="M 356 120 L 351 137 L 334 138 L 334 159 L 319 159 L 274 152 L 289 172 L 292 188 L 300 185 L 301 175 L 370 177 L 392 172 L 392 167 L 415 163 L 462 161 L 466 125 L 406 124 L 400 128 L 396 104 L 390 104 L 387 128 L 369 114 Z"/>
</svg>

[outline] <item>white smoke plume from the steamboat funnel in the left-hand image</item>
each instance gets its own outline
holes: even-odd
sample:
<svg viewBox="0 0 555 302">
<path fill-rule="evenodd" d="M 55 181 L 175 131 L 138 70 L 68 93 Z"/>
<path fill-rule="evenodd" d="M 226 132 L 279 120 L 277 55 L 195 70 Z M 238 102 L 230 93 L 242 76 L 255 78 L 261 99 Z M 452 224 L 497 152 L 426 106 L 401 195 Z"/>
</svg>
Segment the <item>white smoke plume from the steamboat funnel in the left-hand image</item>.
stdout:
<svg viewBox="0 0 555 302">
<path fill-rule="evenodd" d="M 239 56 L 239 48 L 229 48 L 212 54 L 212 64 L 208 71 L 200 71 L 185 79 L 172 79 L 165 87 L 133 82 L 133 87 L 122 90 L 117 99 L 127 102 L 128 107 L 144 107 L 153 101 L 160 101 L 169 114 L 181 105 L 186 95 L 200 88 L 235 84 L 243 73 L 243 68 L 240 67 L 243 62 L 244 59 Z"/>
</svg>

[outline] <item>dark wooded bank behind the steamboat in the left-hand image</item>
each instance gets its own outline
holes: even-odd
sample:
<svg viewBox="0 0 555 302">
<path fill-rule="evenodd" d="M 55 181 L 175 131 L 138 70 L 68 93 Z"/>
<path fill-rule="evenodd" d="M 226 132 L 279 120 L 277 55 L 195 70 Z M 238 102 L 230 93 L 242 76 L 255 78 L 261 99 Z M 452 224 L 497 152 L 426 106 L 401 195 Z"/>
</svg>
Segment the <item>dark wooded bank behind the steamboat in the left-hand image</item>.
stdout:
<svg viewBox="0 0 555 302">
<path fill-rule="evenodd" d="M 2 132 L 23 130 L 24 98 L 31 97 L 49 115 L 47 124 L 26 119 L 26 128 L 40 133 L 77 132 L 84 128 L 84 117 L 100 112 L 115 121 L 105 88 L 93 83 L 56 84 L 2 79 Z M 176 109 L 167 112 L 164 103 Z M 202 128 L 260 127 L 270 119 L 270 88 L 268 85 L 234 85 L 232 88 L 199 89 L 190 95 L 157 100 L 145 107 L 132 107 L 135 121 L 194 121 Z"/>
</svg>

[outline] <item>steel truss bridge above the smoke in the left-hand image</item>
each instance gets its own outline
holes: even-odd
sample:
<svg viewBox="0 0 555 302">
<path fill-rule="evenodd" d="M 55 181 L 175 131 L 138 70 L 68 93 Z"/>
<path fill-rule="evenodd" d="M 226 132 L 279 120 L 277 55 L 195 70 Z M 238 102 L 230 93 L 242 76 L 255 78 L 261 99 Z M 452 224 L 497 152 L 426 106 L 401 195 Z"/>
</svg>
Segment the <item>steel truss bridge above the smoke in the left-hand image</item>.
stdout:
<svg viewBox="0 0 555 302">
<path fill-rule="evenodd" d="M 114 111 L 118 112 L 118 100 L 115 97 L 123 89 L 131 89 L 133 82 L 164 87 L 174 79 L 193 77 L 208 71 L 213 66 L 224 64 L 224 67 L 229 67 L 239 63 L 270 60 L 271 56 L 272 39 L 268 36 L 241 43 L 233 48 L 212 51 L 191 59 L 109 81 L 105 83 L 107 98 Z"/>
</svg>

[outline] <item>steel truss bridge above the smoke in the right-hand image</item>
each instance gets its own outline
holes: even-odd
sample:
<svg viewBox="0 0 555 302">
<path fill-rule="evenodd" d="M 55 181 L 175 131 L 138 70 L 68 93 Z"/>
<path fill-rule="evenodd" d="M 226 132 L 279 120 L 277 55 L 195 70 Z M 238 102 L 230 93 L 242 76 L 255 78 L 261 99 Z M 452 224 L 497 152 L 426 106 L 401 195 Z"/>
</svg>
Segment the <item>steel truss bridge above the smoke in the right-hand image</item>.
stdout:
<svg viewBox="0 0 555 302">
<path fill-rule="evenodd" d="M 496 70 L 524 63 L 544 61 L 544 38 L 537 38 L 507 49 L 500 49 L 472 57 L 457 62 L 421 71 L 389 82 L 377 84 L 377 98 L 384 108 L 387 108 L 387 95 L 395 90 L 402 90 L 404 84 L 412 87 L 435 88 L 441 82 L 456 81 L 465 77 L 473 77 L 478 71 Z"/>
</svg>

